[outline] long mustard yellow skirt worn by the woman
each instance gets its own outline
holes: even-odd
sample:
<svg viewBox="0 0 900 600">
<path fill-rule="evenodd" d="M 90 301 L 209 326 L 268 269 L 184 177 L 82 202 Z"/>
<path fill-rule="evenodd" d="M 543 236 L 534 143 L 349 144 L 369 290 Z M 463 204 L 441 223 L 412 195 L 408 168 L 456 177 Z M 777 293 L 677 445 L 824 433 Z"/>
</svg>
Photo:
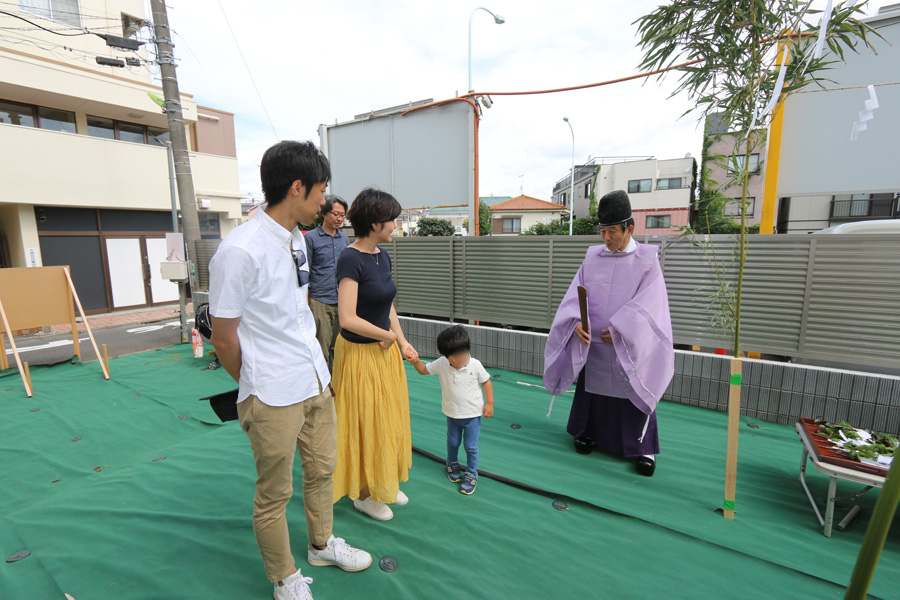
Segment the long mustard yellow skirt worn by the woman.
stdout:
<svg viewBox="0 0 900 600">
<path fill-rule="evenodd" d="M 394 502 L 412 467 L 409 390 L 399 346 L 385 350 L 338 336 L 332 382 L 338 420 L 334 501 L 355 500 L 367 489 L 374 500 Z"/>
</svg>

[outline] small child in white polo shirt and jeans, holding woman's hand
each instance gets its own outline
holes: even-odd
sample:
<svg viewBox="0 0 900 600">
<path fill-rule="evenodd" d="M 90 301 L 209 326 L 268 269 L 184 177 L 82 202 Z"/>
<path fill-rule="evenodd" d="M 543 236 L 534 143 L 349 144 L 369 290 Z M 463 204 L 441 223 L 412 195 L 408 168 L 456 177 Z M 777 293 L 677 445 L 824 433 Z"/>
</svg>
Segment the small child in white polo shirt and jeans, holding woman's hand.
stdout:
<svg viewBox="0 0 900 600">
<path fill-rule="evenodd" d="M 453 483 L 462 482 L 459 491 L 469 495 L 478 484 L 478 433 L 482 415 L 490 418 L 494 414 L 494 388 L 481 362 L 469 354 L 469 334 L 462 326 L 440 332 L 437 345 L 439 359 L 425 364 L 416 358 L 412 365 L 420 375 L 437 375 L 441 379 L 441 408 L 447 415 L 447 477 Z M 461 440 L 466 449 L 463 476 L 459 470 Z"/>
</svg>

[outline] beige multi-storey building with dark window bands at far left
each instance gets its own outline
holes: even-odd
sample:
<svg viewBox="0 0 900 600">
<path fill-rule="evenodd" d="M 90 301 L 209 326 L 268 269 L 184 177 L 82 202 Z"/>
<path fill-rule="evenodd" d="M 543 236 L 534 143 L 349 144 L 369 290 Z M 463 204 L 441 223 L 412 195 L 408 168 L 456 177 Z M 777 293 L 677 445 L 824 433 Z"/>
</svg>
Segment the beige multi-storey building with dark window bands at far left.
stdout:
<svg viewBox="0 0 900 600">
<path fill-rule="evenodd" d="M 177 299 L 158 265 L 172 217 L 152 54 L 93 33 L 152 37 L 141 30 L 144 3 L 28 0 L 4 10 L 17 17 L 0 14 L 0 266 L 70 265 L 91 312 Z M 241 222 L 234 115 L 190 94 L 181 103 L 201 231 L 221 238 Z"/>
</svg>

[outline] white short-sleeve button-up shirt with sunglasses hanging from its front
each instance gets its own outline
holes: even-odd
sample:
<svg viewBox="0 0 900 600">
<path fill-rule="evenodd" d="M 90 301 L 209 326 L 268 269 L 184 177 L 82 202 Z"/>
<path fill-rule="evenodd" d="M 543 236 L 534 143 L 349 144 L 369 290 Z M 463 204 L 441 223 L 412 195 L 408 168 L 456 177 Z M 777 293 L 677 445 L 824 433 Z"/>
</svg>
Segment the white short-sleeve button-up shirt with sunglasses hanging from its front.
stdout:
<svg viewBox="0 0 900 600">
<path fill-rule="evenodd" d="M 251 394 L 270 406 L 288 406 L 331 382 L 316 324 L 300 287 L 291 251 L 306 255 L 303 235 L 265 211 L 236 227 L 209 263 L 209 312 L 241 318 L 238 402 Z M 309 270 L 309 260 L 301 267 Z"/>
</svg>

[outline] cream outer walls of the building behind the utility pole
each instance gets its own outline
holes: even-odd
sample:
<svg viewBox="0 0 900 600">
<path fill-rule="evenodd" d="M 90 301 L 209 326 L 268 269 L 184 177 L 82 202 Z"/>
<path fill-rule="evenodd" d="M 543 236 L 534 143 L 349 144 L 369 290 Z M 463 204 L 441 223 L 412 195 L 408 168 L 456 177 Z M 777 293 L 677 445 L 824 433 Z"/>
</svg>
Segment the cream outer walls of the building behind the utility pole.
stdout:
<svg viewBox="0 0 900 600">
<path fill-rule="evenodd" d="M 121 15 L 146 19 L 143 0 L 80 0 L 81 26 L 122 35 Z M 66 25 L 42 19 L 11 5 L 6 8 L 48 28 Z M 102 17 L 102 15 L 107 15 Z M 0 15 L 0 27 L 28 27 Z M 73 28 L 73 31 L 77 29 Z M 0 99 L 66 110 L 75 115 L 76 133 L 0 124 L 0 228 L 10 266 L 25 266 L 28 248 L 40 244 L 34 227 L 34 205 L 132 210 L 169 210 L 165 148 L 88 136 L 88 115 L 168 129 L 165 114 L 148 96 L 162 96 L 147 66 L 116 68 L 80 60 L 78 52 L 110 58 L 149 59 L 147 50 L 109 48 L 97 36 L 65 38 L 76 52 L 53 51 L 63 38 L 32 31 L 34 44 L 16 44 L 15 30 L 0 41 Z M 197 121 L 197 105 L 182 94 L 185 124 Z M 192 146 L 192 136 L 188 136 Z M 207 212 L 218 213 L 224 237 L 241 220 L 237 160 L 228 156 L 191 154 L 198 199 L 209 199 Z"/>
</svg>

